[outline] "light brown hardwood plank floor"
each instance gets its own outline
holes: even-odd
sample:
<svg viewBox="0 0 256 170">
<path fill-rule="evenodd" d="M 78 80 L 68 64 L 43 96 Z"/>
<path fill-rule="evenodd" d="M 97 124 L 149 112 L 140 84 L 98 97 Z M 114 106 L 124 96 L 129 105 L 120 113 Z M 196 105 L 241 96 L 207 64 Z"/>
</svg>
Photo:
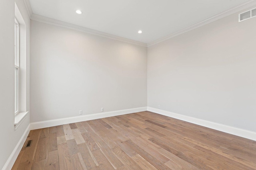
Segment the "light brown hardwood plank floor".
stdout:
<svg viewBox="0 0 256 170">
<path fill-rule="evenodd" d="M 256 141 L 149 111 L 30 131 L 13 170 L 252 170 Z"/>
</svg>

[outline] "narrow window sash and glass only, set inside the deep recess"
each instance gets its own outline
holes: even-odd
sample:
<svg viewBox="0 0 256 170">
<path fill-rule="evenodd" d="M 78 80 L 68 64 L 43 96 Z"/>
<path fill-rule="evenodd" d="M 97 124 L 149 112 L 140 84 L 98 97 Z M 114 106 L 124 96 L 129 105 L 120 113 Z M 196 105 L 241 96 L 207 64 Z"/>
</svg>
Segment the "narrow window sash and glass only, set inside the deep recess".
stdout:
<svg viewBox="0 0 256 170">
<path fill-rule="evenodd" d="M 15 101 L 14 108 L 15 114 L 19 113 L 19 76 L 20 76 L 20 31 L 19 31 L 19 23 L 15 18 L 15 55 L 14 55 L 14 88 L 15 88 Z"/>
</svg>

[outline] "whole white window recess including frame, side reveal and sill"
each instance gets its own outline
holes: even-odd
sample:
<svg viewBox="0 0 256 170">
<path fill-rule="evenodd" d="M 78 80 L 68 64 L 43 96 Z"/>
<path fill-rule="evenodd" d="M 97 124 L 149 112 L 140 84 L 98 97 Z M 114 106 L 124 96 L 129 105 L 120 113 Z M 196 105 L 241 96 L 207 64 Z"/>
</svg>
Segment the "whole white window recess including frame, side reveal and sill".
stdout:
<svg viewBox="0 0 256 170">
<path fill-rule="evenodd" d="M 16 130 L 28 114 L 26 101 L 29 96 L 26 92 L 26 75 L 29 73 L 26 72 L 26 23 L 16 2 L 14 4 L 14 129 Z"/>
</svg>

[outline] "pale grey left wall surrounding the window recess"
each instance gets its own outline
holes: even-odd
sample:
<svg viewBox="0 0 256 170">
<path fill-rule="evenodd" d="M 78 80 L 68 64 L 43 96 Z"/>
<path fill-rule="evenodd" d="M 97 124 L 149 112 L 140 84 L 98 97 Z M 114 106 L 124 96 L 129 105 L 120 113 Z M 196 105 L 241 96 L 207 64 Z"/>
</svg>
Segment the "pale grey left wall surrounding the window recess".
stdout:
<svg viewBox="0 0 256 170">
<path fill-rule="evenodd" d="M 29 70 L 30 18 L 23 0 L 15 1 L 27 26 L 27 61 Z M 0 168 L 4 166 L 30 123 L 30 116 L 14 130 L 14 0 L 0 2 Z M 29 71 L 26 73 L 26 109 L 29 111 Z M 18 151 L 19 152 L 19 151 Z"/>
</svg>

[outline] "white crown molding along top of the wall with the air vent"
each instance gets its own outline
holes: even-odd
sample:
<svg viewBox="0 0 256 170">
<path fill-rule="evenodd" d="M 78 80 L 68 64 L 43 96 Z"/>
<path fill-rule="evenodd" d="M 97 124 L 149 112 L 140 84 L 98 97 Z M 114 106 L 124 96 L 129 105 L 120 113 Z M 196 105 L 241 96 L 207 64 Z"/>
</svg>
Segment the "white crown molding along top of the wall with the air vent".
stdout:
<svg viewBox="0 0 256 170">
<path fill-rule="evenodd" d="M 214 21 L 217 21 L 217 20 L 220 20 L 226 16 L 230 16 L 232 14 L 235 14 L 236 12 L 239 12 L 239 11 L 242 11 L 242 10 L 246 10 L 247 8 L 250 8 L 250 7 L 253 7 L 253 6 L 256 6 L 256 0 L 249 0 L 243 4 L 240 4 L 238 6 L 235 6 L 234 8 L 230 8 L 229 10 L 226 10 L 224 12 L 221 12 L 217 15 L 214 15 L 210 18 L 207 18 L 206 20 L 203 20 L 203 21 L 200 21 L 198 23 L 195 23 L 193 25 L 190 25 L 184 29 L 181 29 L 180 31 L 177 31 L 176 33 L 173 33 L 173 34 L 170 34 L 170 35 L 167 35 L 166 37 L 163 37 L 163 38 L 160 38 L 156 41 L 153 41 L 152 43 L 148 43 L 148 47 L 152 46 L 152 45 L 156 45 L 158 43 L 161 43 L 163 41 L 166 41 L 168 39 L 171 39 L 173 37 L 176 37 L 178 35 L 181 35 L 183 33 L 186 33 L 188 31 L 191 31 L 193 29 L 196 29 L 196 28 L 199 28 L 199 27 L 202 27 L 208 23 L 212 23 Z"/>
</svg>

